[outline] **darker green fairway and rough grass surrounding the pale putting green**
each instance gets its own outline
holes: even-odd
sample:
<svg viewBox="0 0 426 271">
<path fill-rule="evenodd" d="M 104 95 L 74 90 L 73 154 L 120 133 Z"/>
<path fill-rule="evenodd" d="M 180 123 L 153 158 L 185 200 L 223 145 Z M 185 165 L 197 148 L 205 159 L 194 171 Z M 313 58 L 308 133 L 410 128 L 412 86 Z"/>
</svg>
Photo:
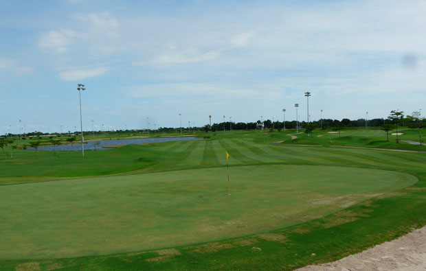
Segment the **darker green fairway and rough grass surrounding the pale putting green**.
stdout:
<svg viewBox="0 0 426 271">
<path fill-rule="evenodd" d="M 350 132 L 364 134 L 350 135 Z M 417 131 L 408 130 L 407 140 L 415 140 L 415 132 Z M 383 148 L 424 150 L 425 146 L 387 143 L 385 133 L 379 130 L 351 130 L 348 131 L 348 137 L 340 143 L 327 143 L 328 134 L 326 132 L 315 133 L 314 137 L 308 138 L 302 134 L 295 140 L 291 140 L 284 133 L 278 134 L 278 132 L 242 131 L 232 134 L 227 132 L 225 135 L 209 133 L 210 141 L 129 145 L 105 152 L 87 152 L 85 158 L 81 158 L 78 153 L 71 152 L 61 152 L 59 157 L 52 156 L 51 152 L 39 152 L 39 158 L 36 160 L 34 152 L 16 150 L 13 161 L 1 161 L 0 163 L 0 184 L 106 174 L 133 176 L 150 172 L 223 167 L 225 150 L 231 154 L 231 171 L 237 168 L 237 165 L 322 165 L 330 169 L 331 167 L 352 167 L 403 172 L 416 176 L 419 181 L 412 187 L 383 193 L 381 196 L 359 202 L 359 204 L 353 202 L 355 204 L 344 210 L 322 217 L 310 217 L 312 220 L 308 222 L 289 227 L 283 226 L 276 231 L 190 246 L 115 255 L 70 259 L 2 260 L 0 268 L 3 270 L 15 270 L 15 268 L 21 270 L 52 270 L 56 268 L 63 270 L 87 268 L 102 270 L 290 270 L 309 263 L 339 259 L 426 224 L 425 154 L 330 147 L 330 145 L 346 144 L 373 148 L 384 146 Z M 320 133 L 326 135 L 315 137 Z M 410 135 L 410 133 L 412 134 Z M 341 138 L 344 138 L 343 134 Z M 334 137 L 334 142 L 338 135 L 330 134 L 330 137 L 332 139 Z M 271 144 L 282 140 L 284 143 L 315 143 L 323 146 L 296 147 Z M 405 139 L 403 138 L 403 140 Z M 351 142 L 353 144 L 350 144 Z M 386 144 L 389 146 L 386 147 Z M 315 176 L 315 170 L 311 174 Z M 136 176 L 139 175 L 134 177 Z M 72 183 L 73 181 L 67 182 Z M 83 180 L 77 181 L 83 182 Z M 45 184 L 52 185 L 55 183 L 45 182 Z M 8 189 L 12 189 L 12 187 L 18 186 L 10 185 Z M 0 191 L 3 188 L 0 187 Z M 17 196 L 19 194 L 21 194 L 21 198 L 16 199 L 15 202 L 25 198 L 22 193 L 18 193 Z M 90 195 L 82 194 L 81 196 L 89 198 Z M 11 204 L 10 200 L 5 202 L 4 197 L 0 198 L 0 203 L 1 206 Z M 70 211 L 72 210 L 71 208 Z M 5 217 L 1 215 L 2 213 L 0 213 L 0 222 L 14 222 L 14 217 L 5 220 Z M 31 215 L 28 213 L 29 217 Z M 19 224 L 15 226 L 19 228 Z M 46 231 L 49 231 L 49 227 L 54 226 L 54 222 L 45 225 Z M 18 236 L 15 237 L 18 238 Z M 109 238 L 109 236 L 104 237 Z"/>
</svg>

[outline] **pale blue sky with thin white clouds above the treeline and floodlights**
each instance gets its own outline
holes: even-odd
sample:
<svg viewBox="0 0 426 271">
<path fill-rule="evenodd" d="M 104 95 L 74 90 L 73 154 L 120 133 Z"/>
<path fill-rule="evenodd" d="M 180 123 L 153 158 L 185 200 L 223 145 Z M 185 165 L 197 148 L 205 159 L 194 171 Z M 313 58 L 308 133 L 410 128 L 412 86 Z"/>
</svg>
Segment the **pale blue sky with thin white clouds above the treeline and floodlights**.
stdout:
<svg viewBox="0 0 426 271">
<path fill-rule="evenodd" d="M 426 1 L 0 0 L 0 134 L 426 113 Z M 62 126 L 62 127 L 61 127 Z"/>
</svg>

